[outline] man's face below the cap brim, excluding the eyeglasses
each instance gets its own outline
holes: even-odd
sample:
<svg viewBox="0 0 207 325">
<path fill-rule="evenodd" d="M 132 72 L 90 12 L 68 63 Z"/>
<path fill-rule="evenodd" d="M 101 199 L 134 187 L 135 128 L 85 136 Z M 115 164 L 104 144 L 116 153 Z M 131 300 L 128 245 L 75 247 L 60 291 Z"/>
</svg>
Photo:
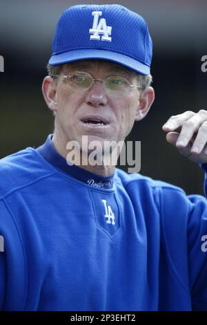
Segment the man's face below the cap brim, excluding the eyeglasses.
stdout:
<svg viewBox="0 0 207 325">
<path fill-rule="evenodd" d="M 105 80 L 106 77 L 117 75 L 126 78 L 130 84 L 136 83 L 136 73 L 119 64 L 99 60 L 79 61 L 63 65 L 61 74 L 67 75 L 74 71 L 90 73 L 93 78 Z M 124 140 L 135 121 L 139 106 L 139 91 L 124 93 L 121 97 L 108 94 L 103 82 L 95 81 L 88 91 L 77 92 L 68 87 L 66 79 L 59 78 L 56 89 L 56 124 L 61 139 L 81 144 L 81 137 L 88 136 L 88 143 L 98 140 Z M 105 124 L 87 122 L 102 120 Z"/>
</svg>

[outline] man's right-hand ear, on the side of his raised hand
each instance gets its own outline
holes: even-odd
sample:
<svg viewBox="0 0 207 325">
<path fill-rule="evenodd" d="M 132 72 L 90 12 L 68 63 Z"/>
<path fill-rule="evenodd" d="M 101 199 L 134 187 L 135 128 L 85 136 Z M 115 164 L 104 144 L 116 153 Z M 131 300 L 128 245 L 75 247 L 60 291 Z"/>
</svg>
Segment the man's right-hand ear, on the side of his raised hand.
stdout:
<svg viewBox="0 0 207 325">
<path fill-rule="evenodd" d="M 140 121 L 147 115 L 154 100 L 155 91 L 152 87 L 148 87 L 144 91 L 141 91 L 139 95 L 139 106 L 137 107 L 135 121 Z"/>
</svg>

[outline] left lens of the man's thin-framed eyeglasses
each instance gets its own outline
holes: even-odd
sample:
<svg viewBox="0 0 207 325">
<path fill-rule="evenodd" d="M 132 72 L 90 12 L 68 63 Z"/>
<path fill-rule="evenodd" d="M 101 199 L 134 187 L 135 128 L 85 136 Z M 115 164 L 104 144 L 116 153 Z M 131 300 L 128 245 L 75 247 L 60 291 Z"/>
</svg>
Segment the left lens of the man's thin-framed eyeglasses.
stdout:
<svg viewBox="0 0 207 325">
<path fill-rule="evenodd" d="M 68 75 L 67 82 L 74 91 L 86 91 L 92 84 L 92 77 L 88 73 L 74 72 Z"/>
</svg>

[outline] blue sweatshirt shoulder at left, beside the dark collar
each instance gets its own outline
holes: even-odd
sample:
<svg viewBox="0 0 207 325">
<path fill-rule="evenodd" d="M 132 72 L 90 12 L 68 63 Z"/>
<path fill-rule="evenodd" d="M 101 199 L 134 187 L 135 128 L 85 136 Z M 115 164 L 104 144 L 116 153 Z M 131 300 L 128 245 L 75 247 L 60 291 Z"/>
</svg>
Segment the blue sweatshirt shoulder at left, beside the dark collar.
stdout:
<svg viewBox="0 0 207 325">
<path fill-rule="evenodd" d="M 0 160 L 0 198 L 52 173 L 50 165 L 31 147 L 6 156 Z"/>
</svg>

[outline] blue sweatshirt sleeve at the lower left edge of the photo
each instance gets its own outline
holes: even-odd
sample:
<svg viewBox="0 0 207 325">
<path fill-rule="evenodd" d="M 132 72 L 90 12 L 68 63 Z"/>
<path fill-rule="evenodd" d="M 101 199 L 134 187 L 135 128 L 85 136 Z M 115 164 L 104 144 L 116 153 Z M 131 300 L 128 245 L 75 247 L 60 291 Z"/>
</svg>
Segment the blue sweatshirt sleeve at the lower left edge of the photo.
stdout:
<svg viewBox="0 0 207 325">
<path fill-rule="evenodd" d="M 0 310 L 21 310 L 26 293 L 26 268 L 17 225 L 5 200 L 0 200 Z"/>
</svg>

